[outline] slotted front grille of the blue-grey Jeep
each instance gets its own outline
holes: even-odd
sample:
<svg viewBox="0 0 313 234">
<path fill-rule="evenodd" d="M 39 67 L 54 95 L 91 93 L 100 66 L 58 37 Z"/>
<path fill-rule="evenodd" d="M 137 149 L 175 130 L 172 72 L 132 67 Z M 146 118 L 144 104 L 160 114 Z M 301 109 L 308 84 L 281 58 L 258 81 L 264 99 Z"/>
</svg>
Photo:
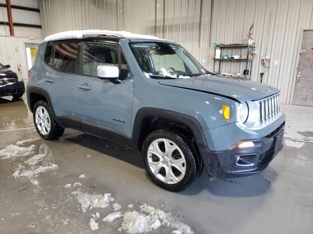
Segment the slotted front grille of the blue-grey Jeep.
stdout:
<svg viewBox="0 0 313 234">
<path fill-rule="evenodd" d="M 259 101 L 260 124 L 268 122 L 280 113 L 279 93 Z"/>
</svg>

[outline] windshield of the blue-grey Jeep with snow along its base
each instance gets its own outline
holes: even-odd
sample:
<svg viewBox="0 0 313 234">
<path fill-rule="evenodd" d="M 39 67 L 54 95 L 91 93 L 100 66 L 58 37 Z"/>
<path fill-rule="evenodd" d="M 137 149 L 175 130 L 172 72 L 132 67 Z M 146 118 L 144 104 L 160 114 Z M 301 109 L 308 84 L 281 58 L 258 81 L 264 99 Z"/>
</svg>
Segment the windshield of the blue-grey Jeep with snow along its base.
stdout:
<svg viewBox="0 0 313 234">
<path fill-rule="evenodd" d="M 154 42 L 132 43 L 141 70 L 152 75 L 186 78 L 205 75 L 199 62 L 179 45 Z"/>
</svg>

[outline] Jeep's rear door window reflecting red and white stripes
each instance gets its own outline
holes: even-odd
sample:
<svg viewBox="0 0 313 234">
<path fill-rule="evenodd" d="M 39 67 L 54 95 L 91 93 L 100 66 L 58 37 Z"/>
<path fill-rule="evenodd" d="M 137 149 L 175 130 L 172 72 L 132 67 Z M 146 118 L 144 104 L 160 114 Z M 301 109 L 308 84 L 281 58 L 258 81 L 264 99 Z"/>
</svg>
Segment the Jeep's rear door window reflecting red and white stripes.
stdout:
<svg viewBox="0 0 313 234">
<path fill-rule="evenodd" d="M 54 68 L 62 72 L 75 73 L 78 44 L 56 44 L 54 52 Z"/>
</svg>

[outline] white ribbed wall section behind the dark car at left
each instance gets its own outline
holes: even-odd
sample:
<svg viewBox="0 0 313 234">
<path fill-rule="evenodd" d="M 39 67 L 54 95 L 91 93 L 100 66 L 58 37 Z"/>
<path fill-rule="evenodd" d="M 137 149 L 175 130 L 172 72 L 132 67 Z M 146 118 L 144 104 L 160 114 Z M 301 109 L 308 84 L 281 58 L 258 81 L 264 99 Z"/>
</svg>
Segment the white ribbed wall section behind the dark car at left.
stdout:
<svg viewBox="0 0 313 234">
<path fill-rule="evenodd" d="M 28 68 L 25 43 L 39 44 L 43 39 L 28 39 L 19 37 L 0 37 L 0 62 L 10 64 L 10 70 L 18 73 L 18 64 L 22 66 L 22 78 L 27 79 Z M 16 51 L 17 50 L 17 51 Z"/>
</svg>

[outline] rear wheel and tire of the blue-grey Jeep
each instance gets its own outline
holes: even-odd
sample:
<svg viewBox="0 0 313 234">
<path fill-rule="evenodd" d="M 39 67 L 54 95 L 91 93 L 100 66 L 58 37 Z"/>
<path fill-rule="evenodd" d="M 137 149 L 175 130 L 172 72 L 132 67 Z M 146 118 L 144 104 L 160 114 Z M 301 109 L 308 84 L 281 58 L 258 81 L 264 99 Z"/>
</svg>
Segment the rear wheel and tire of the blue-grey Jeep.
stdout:
<svg viewBox="0 0 313 234">
<path fill-rule="evenodd" d="M 50 107 L 44 101 L 37 101 L 33 110 L 33 120 L 37 133 L 44 139 L 51 140 L 61 137 L 64 127 L 58 125 Z"/>
</svg>

